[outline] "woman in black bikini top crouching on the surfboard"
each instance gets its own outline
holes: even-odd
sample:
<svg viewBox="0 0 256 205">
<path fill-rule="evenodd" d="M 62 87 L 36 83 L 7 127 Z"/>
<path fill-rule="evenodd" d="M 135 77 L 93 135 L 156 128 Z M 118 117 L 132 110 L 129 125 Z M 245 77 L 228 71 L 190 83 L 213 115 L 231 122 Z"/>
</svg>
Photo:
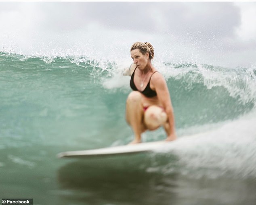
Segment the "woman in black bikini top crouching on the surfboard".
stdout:
<svg viewBox="0 0 256 205">
<path fill-rule="evenodd" d="M 176 139 L 174 114 L 164 77 L 152 66 L 154 48 L 150 43 L 136 42 L 130 49 L 132 92 L 126 101 L 126 121 L 134 131 L 131 143 L 141 142 L 141 133 L 164 126 L 168 141 Z"/>
</svg>

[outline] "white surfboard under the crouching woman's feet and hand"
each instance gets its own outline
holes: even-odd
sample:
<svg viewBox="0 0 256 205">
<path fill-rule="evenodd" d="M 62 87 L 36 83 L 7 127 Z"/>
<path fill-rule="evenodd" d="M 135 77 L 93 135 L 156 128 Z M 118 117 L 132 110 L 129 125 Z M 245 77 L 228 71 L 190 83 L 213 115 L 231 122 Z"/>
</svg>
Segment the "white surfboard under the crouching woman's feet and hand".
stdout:
<svg viewBox="0 0 256 205">
<path fill-rule="evenodd" d="M 140 152 L 153 152 L 153 150 L 171 143 L 170 141 L 152 141 L 138 144 L 128 144 L 123 146 L 113 146 L 107 148 L 99 148 L 92 150 L 79 150 L 61 152 L 57 155 L 58 158 L 88 158 L 95 156 L 113 156 L 120 154 L 137 154 Z"/>
</svg>

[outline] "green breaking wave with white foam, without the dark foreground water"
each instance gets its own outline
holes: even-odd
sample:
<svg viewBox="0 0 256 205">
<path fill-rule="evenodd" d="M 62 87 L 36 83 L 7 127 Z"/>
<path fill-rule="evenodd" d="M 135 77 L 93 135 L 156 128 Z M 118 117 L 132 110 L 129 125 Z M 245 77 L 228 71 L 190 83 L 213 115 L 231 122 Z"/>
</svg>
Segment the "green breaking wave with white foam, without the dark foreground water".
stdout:
<svg viewBox="0 0 256 205">
<path fill-rule="evenodd" d="M 166 78 L 179 139 L 157 152 L 161 160 L 146 166 L 147 171 L 256 176 L 255 68 L 153 64 Z M 130 77 L 122 74 L 128 66 L 122 59 L 0 53 L 0 134 L 6 140 L 1 149 L 26 143 L 68 145 L 68 150 L 128 143 L 133 133 L 124 110 Z M 143 141 L 145 136 L 159 140 L 165 133 L 143 133 Z M 173 154 L 177 160 L 170 160 Z"/>
</svg>

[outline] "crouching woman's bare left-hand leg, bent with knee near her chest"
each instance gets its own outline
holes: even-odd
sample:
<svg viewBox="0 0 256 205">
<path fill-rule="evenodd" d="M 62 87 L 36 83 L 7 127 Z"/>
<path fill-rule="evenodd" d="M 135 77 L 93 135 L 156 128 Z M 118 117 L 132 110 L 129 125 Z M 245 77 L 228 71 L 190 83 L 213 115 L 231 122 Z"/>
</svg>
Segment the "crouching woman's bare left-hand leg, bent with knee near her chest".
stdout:
<svg viewBox="0 0 256 205">
<path fill-rule="evenodd" d="M 141 142 L 141 133 L 146 131 L 142 105 L 142 94 L 132 91 L 126 100 L 126 121 L 134 131 L 134 140 L 131 143 Z"/>
</svg>

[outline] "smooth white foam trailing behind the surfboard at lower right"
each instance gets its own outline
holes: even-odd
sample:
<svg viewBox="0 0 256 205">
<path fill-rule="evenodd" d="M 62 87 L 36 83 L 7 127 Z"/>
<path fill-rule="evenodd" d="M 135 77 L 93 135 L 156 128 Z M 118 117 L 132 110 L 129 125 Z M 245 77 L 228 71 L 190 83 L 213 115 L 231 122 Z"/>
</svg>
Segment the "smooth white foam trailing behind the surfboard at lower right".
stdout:
<svg viewBox="0 0 256 205">
<path fill-rule="evenodd" d="M 177 161 L 149 167 L 148 171 L 168 174 L 178 164 L 180 173 L 201 178 L 256 176 L 256 115 L 255 111 L 234 121 L 223 122 L 218 128 L 189 136 L 155 150 Z"/>
</svg>

